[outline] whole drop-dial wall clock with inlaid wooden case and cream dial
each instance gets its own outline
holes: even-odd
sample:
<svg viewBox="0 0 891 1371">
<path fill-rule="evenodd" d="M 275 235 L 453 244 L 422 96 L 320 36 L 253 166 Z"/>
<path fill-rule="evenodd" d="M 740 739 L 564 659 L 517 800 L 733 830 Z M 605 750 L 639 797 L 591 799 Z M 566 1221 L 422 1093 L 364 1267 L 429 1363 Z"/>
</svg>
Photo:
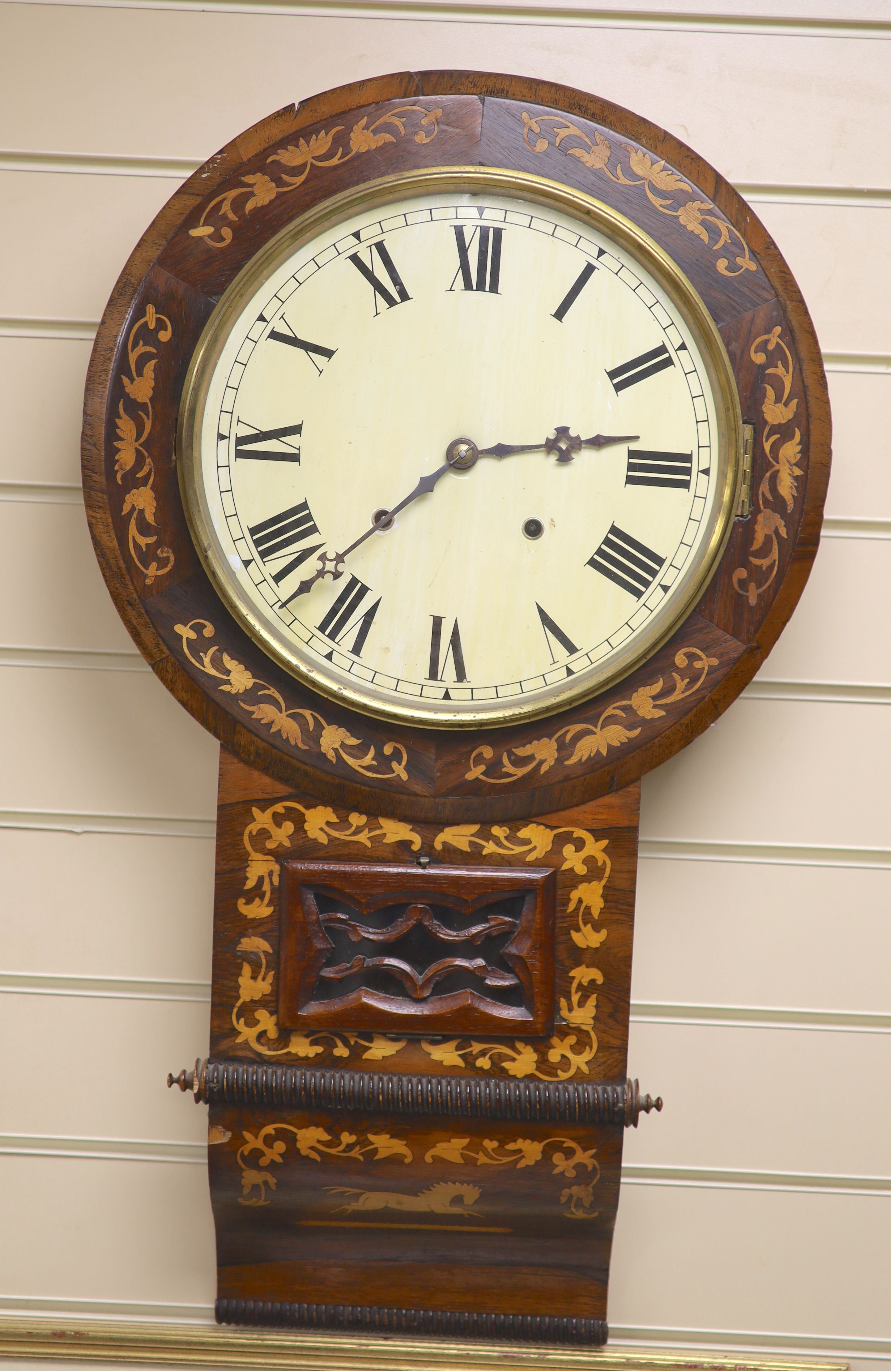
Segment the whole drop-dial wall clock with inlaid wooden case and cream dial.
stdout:
<svg viewBox="0 0 891 1371">
<path fill-rule="evenodd" d="M 247 130 L 121 276 L 84 484 L 221 740 L 217 1315 L 598 1344 L 639 781 L 813 561 L 829 414 L 748 207 L 617 106 L 382 77 Z M 173 1078 L 171 1078 L 173 1082 Z"/>
</svg>

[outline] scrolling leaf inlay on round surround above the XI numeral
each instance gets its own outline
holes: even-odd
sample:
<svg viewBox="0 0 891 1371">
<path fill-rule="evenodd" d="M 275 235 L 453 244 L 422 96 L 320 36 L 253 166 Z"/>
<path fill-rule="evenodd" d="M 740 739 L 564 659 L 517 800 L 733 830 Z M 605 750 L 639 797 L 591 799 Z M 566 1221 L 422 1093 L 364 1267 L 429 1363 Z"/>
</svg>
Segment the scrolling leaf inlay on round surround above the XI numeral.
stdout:
<svg viewBox="0 0 891 1371">
<path fill-rule="evenodd" d="M 248 196 L 247 200 L 239 204 L 239 208 L 247 218 L 251 210 L 262 210 L 265 206 L 271 204 L 277 196 L 289 195 L 292 191 L 296 191 L 299 185 L 303 185 L 313 167 L 329 169 L 345 166 L 347 162 L 363 152 L 374 152 L 388 143 L 396 143 L 396 137 L 392 133 L 377 132 L 382 126 L 396 129 L 399 138 L 403 138 L 406 136 L 407 117 L 411 114 L 421 115 L 414 141 L 419 144 L 432 143 L 439 133 L 439 121 L 443 117 L 443 111 L 425 110 L 419 104 L 400 106 L 399 110 L 382 114 L 371 125 L 369 125 L 367 114 L 363 115 L 350 130 L 350 151 L 345 156 L 343 141 L 340 141 L 340 145 L 330 156 L 326 156 L 332 151 L 332 144 L 337 134 L 344 132 L 344 125 L 337 125 L 330 132 L 321 129 L 310 137 L 308 143 L 306 138 L 300 138 L 296 147 L 289 143 L 288 147 L 278 148 L 277 152 L 266 158 L 267 165 L 270 162 L 281 162 L 282 166 L 292 167 L 296 173 L 295 175 L 286 175 L 282 171 L 280 181 L 273 181 L 265 171 L 243 175 L 243 185 L 237 185 L 211 200 L 196 228 L 189 229 L 191 236 L 193 239 L 203 239 L 208 248 L 229 247 L 232 243 L 232 229 L 222 221 L 228 219 L 229 223 L 239 222 L 239 215 L 233 207 L 241 196 Z M 210 223 L 206 222 L 208 218 L 211 219 Z M 219 237 L 215 237 L 215 234 L 219 234 Z"/>
</svg>

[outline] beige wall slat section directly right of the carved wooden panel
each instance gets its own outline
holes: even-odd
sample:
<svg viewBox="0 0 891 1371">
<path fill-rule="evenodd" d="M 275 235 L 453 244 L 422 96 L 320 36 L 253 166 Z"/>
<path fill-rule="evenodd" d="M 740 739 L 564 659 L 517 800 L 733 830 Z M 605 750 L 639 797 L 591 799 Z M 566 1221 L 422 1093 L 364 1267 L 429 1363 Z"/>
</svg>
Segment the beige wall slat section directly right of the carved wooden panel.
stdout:
<svg viewBox="0 0 891 1371">
<path fill-rule="evenodd" d="M 888 1009 L 886 869 L 644 860 L 636 906 L 631 998 L 640 1013 L 684 1016 L 659 1010 L 666 1002 Z"/>
</svg>

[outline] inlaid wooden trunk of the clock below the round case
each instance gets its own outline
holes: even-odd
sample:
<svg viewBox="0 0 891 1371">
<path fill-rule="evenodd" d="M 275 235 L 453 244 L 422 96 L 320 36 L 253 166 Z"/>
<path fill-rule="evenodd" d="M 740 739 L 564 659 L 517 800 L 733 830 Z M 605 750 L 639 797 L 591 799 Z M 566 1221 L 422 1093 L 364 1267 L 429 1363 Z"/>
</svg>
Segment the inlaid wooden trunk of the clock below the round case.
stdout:
<svg viewBox="0 0 891 1371">
<path fill-rule="evenodd" d="M 408 823 L 221 753 L 222 1320 L 605 1339 L 637 810 Z"/>
</svg>

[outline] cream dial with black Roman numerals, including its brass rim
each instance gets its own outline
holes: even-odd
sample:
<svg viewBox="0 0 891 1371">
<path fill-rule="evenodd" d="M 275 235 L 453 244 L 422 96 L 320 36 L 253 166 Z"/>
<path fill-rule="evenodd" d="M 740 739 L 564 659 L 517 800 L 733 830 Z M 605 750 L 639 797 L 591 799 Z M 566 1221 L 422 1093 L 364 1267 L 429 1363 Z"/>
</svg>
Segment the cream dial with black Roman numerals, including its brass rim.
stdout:
<svg viewBox="0 0 891 1371">
<path fill-rule="evenodd" d="M 324 694 L 430 727 L 551 713 L 702 592 L 729 377 L 613 211 L 513 173 L 373 182 L 280 234 L 206 329 L 180 425 L 196 546 Z"/>
</svg>

